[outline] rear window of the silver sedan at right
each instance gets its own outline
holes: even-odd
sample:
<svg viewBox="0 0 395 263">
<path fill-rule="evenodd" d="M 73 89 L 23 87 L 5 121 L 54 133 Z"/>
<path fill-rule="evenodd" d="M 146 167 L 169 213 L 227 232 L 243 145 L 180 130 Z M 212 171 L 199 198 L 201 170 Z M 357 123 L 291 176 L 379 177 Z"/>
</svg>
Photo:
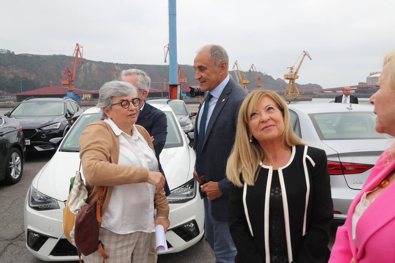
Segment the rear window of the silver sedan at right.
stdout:
<svg viewBox="0 0 395 263">
<path fill-rule="evenodd" d="M 330 112 L 309 114 L 321 140 L 388 139 L 376 132 L 373 112 Z"/>
</svg>

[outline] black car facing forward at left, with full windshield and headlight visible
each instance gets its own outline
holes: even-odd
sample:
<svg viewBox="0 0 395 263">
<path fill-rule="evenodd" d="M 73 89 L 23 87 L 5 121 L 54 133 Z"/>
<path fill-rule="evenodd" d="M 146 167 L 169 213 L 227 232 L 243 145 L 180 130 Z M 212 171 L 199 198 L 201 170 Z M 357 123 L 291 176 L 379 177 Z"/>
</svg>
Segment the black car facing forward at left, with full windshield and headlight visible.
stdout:
<svg viewBox="0 0 395 263">
<path fill-rule="evenodd" d="M 28 98 L 4 115 L 21 123 L 26 151 L 47 151 L 55 149 L 49 140 L 64 137 L 83 112 L 70 98 Z"/>
</svg>

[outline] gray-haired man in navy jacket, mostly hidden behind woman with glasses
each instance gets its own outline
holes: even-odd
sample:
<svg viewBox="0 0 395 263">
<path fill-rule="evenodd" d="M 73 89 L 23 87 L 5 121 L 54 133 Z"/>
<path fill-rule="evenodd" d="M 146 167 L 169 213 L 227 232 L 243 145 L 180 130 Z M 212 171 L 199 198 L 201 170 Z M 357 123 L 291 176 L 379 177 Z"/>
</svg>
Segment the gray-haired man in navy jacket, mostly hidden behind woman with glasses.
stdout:
<svg viewBox="0 0 395 263">
<path fill-rule="evenodd" d="M 155 108 L 154 106 L 145 103 L 144 99 L 149 93 L 151 79 L 142 70 L 127 69 L 121 73 L 122 79 L 132 84 L 137 91 L 137 97 L 140 99 L 139 113 L 135 124 L 143 126 L 151 136 L 152 144 L 154 145 L 156 159 L 158 159 L 159 172 L 163 175 L 163 169 L 159 162 L 159 155 L 165 146 L 167 136 L 167 118 L 166 114 Z M 165 182 L 166 196 L 170 194 L 167 180 Z M 155 245 L 155 232 L 152 232 L 149 237 L 149 254 L 148 262 L 156 263 L 158 259 L 156 245 Z"/>
</svg>

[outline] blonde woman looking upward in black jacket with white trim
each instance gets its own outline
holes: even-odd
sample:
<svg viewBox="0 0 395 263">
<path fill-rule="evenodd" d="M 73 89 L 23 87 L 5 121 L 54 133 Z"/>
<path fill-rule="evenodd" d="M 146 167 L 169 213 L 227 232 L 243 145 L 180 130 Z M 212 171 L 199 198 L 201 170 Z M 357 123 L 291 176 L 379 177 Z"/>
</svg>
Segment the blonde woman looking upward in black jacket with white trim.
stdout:
<svg viewBox="0 0 395 263">
<path fill-rule="evenodd" d="M 236 263 L 328 261 L 326 155 L 301 142 L 275 92 L 256 90 L 243 101 L 226 173 Z"/>
</svg>

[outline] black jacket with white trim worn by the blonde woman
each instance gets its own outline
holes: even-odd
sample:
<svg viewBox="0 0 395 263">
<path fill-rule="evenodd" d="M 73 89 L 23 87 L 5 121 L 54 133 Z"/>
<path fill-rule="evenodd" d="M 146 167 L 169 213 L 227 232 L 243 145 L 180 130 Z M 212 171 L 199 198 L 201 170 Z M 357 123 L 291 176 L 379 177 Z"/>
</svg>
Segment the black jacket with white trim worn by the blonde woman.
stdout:
<svg viewBox="0 0 395 263">
<path fill-rule="evenodd" d="M 231 186 L 229 229 L 237 248 L 235 262 L 270 262 L 269 197 L 273 168 L 260 163 L 254 186 Z M 289 162 L 278 168 L 289 262 L 327 262 L 333 203 L 324 150 L 292 147 Z"/>
</svg>

